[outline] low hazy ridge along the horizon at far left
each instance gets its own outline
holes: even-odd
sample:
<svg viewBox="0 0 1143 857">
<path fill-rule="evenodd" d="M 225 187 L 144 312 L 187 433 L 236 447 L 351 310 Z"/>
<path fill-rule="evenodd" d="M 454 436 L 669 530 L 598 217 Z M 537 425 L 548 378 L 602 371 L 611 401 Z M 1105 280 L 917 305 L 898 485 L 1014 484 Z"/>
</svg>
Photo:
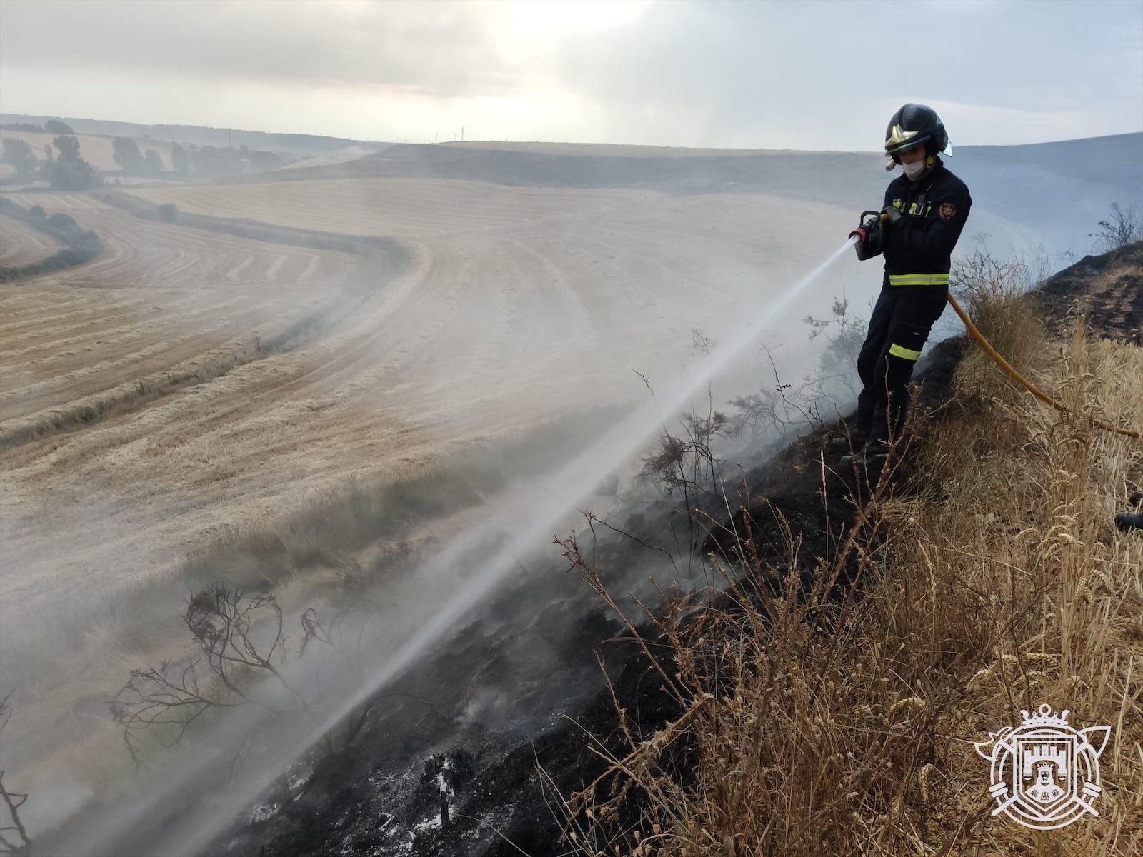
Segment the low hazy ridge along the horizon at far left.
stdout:
<svg viewBox="0 0 1143 857">
<path fill-rule="evenodd" d="M 114 122 L 104 119 L 75 119 L 72 117 L 32 117 L 22 113 L 0 113 L 0 125 L 29 122 L 43 125 L 49 119 L 58 119 L 70 125 L 77 134 L 106 134 L 115 137 L 152 137 L 174 143 L 193 143 L 198 146 L 238 147 L 247 146 L 271 152 L 296 154 L 325 154 L 346 149 L 360 149 L 362 154 L 389 146 L 381 141 L 349 139 L 346 137 L 321 137 L 313 134 L 269 134 L 247 131 L 239 128 L 208 128 L 200 125 L 138 125 Z"/>
</svg>

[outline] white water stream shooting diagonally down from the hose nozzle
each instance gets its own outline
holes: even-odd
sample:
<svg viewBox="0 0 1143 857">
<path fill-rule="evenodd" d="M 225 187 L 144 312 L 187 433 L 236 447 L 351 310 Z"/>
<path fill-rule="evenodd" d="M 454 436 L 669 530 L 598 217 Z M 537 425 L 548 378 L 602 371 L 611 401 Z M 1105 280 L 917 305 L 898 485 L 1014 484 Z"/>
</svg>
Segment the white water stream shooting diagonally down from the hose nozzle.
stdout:
<svg viewBox="0 0 1143 857">
<path fill-rule="evenodd" d="M 193 748 L 165 760 L 162 769 L 141 784 L 142 796 L 133 807 L 107 812 L 72 830 L 57 852 L 91 854 L 93 842 L 101 843 L 98 854 L 138 850 L 142 843 L 146 843 L 150 852 L 171 857 L 201 850 L 256 799 L 267 779 L 288 768 L 350 712 L 375 697 L 478 615 L 499 586 L 519 576 L 521 566 L 527 568 L 528 558 L 535 555 L 537 547 L 568 523 L 582 498 L 591 495 L 604 476 L 629 460 L 662 427 L 664 418 L 692 402 L 760 333 L 783 320 L 806 287 L 850 245 L 847 242 L 799 283 L 764 306 L 735 336 L 696 361 L 690 371 L 665 381 L 655 403 L 622 419 L 555 471 L 501 498 L 480 521 L 448 539 L 415 575 L 418 590 L 435 593 L 437 598 L 425 599 L 422 594 L 406 600 L 400 591 L 386 591 L 393 599 L 392 607 L 385 611 L 384 622 L 376 625 L 379 631 L 367 646 L 376 652 L 368 658 L 375 666 L 360 686 L 344 688 L 339 704 L 320 723 L 301 734 L 275 735 L 272 746 L 251 759 L 229 783 L 211 784 L 209 798 L 189 811 L 190 795 L 201 791 L 213 779 L 217 766 L 229 763 L 250 731 L 259 728 L 262 712 L 253 706 L 239 710 L 195 740 Z M 328 672 L 320 659 L 303 659 L 294 667 L 289 682 L 293 687 L 312 687 L 322 676 L 328 684 Z M 259 698 L 272 699 L 283 692 L 277 687 L 263 688 Z M 282 703 L 285 706 L 285 699 Z M 489 705 L 495 711 L 497 703 L 477 698 L 470 713 Z M 179 808 L 177 815 L 173 815 L 171 807 Z M 149 830 L 155 822 L 161 823 L 161 834 Z M 151 839 L 157 835 L 158 839 Z"/>
</svg>

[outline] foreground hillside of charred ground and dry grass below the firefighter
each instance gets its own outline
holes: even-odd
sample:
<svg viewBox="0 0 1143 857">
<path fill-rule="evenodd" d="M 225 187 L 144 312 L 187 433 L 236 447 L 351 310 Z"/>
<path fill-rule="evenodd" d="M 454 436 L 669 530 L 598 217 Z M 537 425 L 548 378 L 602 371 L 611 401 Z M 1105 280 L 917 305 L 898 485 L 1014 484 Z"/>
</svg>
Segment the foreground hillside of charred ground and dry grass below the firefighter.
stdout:
<svg viewBox="0 0 1143 857">
<path fill-rule="evenodd" d="M 1042 289 L 1048 327 L 1064 336 L 1065 362 L 1023 367 L 1042 376 L 1041 383 L 1058 390 L 1072 407 L 1106 408 L 1135 426 L 1143 424 L 1143 390 L 1138 387 L 1143 355 L 1129 345 L 1092 343 L 1082 330 L 1078 337 L 1068 334 L 1065 313 L 1070 301 L 1097 295 L 1100 303 L 1113 302 L 1124 311 L 1106 320 L 1094 317 L 1092 336 L 1121 335 L 1125 318 L 1135 320 L 1127 323 L 1136 323 L 1137 333 L 1143 312 L 1141 271 L 1143 245 L 1136 245 L 1117 255 L 1084 259 L 1048 281 Z M 1008 310 L 1017 311 L 1018 304 Z M 990 818 L 988 766 L 973 754 L 970 742 L 974 735 L 983 740 L 990 728 L 1015 716 L 1013 706 L 1034 708 L 1046 699 L 1071 707 L 1084 726 L 1113 723 L 1119 729 L 1116 746 L 1133 747 L 1143 738 L 1138 684 L 1129 683 L 1130 659 L 1143 657 L 1143 627 L 1137 622 L 1143 609 L 1138 577 L 1143 542 L 1110 527 L 1111 512 L 1125 502 L 1126 488 L 1140 486 L 1143 471 L 1129 440 L 1093 433 L 1082 421 L 1058 417 L 1006 382 L 981 381 L 974 375 L 978 367 L 959 366 L 961 357 L 970 353 L 966 349 L 964 341 L 940 349 L 925 379 L 920 409 L 927 422 L 918 436 L 919 451 L 912 450 L 894 479 L 874 495 L 864 494 L 852 476 L 836 471 L 832 454 L 822 458 L 828 432 L 805 438 L 776 464 L 749 476 L 754 559 L 740 554 L 748 570 L 753 566 L 756 574 L 781 571 L 783 552 L 800 544 L 789 555 L 797 558 L 804 584 L 812 585 L 815 574 L 840 568 L 837 562 L 861 583 L 864 595 L 860 601 L 842 599 L 840 608 L 829 608 L 837 612 L 838 624 L 828 638 L 809 633 L 816 619 L 805 606 L 775 601 L 774 593 L 752 591 L 749 585 L 743 585 L 743 595 L 758 599 L 748 599 L 756 604 L 751 610 L 765 609 L 770 616 L 775 610 L 790 610 L 793 624 L 783 625 L 782 631 L 775 626 L 756 642 L 761 625 L 756 624 L 748 638 L 741 636 L 750 623 L 740 622 L 737 610 L 727 610 L 717 600 L 721 607 L 698 626 L 705 643 L 690 635 L 694 619 L 640 628 L 653 651 L 666 647 L 668 654 L 657 657 L 664 675 L 681 670 L 682 675 L 676 675 L 680 684 L 702 674 L 712 678 L 705 668 L 696 673 L 690 659 L 724 644 L 741 646 L 743 657 L 761 658 L 764 666 L 796 672 L 758 686 L 753 676 L 765 673 L 750 667 L 734 674 L 724 665 L 719 674 L 737 682 L 733 698 L 725 699 L 729 707 L 703 714 L 666 692 L 663 681 L 630 644 L 632 638 L 622 634 L 626 646 L 613 643 L 604 649 L 606 663 L 615 670 L 612 690 L 578 706 L 554 730 L 512 742 L 506 735 L 469 727 L 449 740 L 447 721 L 453 710 L 447 705 L 431 716 L 403 721 L 400 728 L 392 721 L 378 724 L 362 735 L 352 754 L 321 766 L 317 775 L 321 785 L 295 806 L 267 822 L 233 831 L 210 854 L 317 857 L 522 851 L 538 857 L 569 849 L 580 854 L 576 849 L 584 848 L 585 831 L 593 831 L 592 849 L 605 842 L 625 843 L 626 852 L 637 847 L 633 832 L 641 830 L 664 854 L 674 855 L 688 852 L 684 844 L 688 824 L 694 831 L 705 831 L 712 844 L 722 842 L 724 834 L 732 836 L 746 854 L 848 854 L 862 842 L 862 852 L 898 854 L 894 842 L 903 848 L 918 838 L 934 851 L 943 846 L 941 854 L 1022 852 L 1031 834 L 1002 818 Z M 824 497 L 823 463 L 826 473 L 832 473 Z M 1063 482 L 1041 481 L 1064 467 L 1069 475 Z M 857 499 L 857 505 L 847 498 Z M 984 515 L 980 510 L 990 512 Z M 855 513 L 861 524 L 854 532 L 865 547 L 853 554 L 850 546 L 849 559 L 842 560 L 839 556 Z M 785 528 L 777 526 L 780 521 L 792 526 L 793 543 Z M 654 527 L 641 530 L 636 522 L 626 527 L 645 539 L 654 531 Z M 730 522 L 716 527 L 709 547 L 712 559 L 721 558 L 714 561 L 734 564 L 735 551 L 743 550 L 744 543 L 728 540 L 729 527 Z M 839 548 L 842 553 L 834 555 Z M 606 566 L 615 561 L 623 561 L 615 546 L 597 546 L 591 567 L 581 564 L 580 570 L 590 577 L 594 568 L 606 579 Z M 1101 582 L 1092 574 L 1098 574 Z M 1078 595 L 1076 587 L 1088 594 Z M 1062 616 L 1071 624 L 1061 626 Z M 544 624 L 542 615 L 536 619 L 537 625 Z M 604 622 L 600 631 L 608 627 Z M 671 633 L 664 636 L 663 628 Z M 729 632 L 734 633 L 728 638 L 719 636 Z M 885 639 L 878 639 L 881 633 Z M 898 640 L 901 648 L 894 648 Z M 583 628 L 563 650 L 569 657 L 582 656 L 591 644 Z M 689 648 L 696 644 L 698 649 Z M 433 684 L 438 694 L 441 687 L 457 687 L 454 682 L 471 694 L 471 675 L 479 670 L 466 667 L 465 659 L 495 659 L 496 650 L 479 634 L 465 635 L 439 652 L 435 666 L 426 666 L 421 678 L 410 676 L 397 690 L 417 692 L 418 683 L 439 670 L 446 678 Z M 805 675 L 794 662 L 804 665 Z M 686 663 L 689 666 L 680 666 Z M 879 681 L 878 675 L 895 678 Z M 796 694 L 812 692 L 817 700 L 807 703 L 809 710 L 788 708 L 786 692 L 778 694 L 776 680 Z M 697 695 L 692 698 L 698 702 L 701 691 L 702 687 L 692 687 L 687 692 Z M 615 703 L 628 712 L 622 722 L 615 715 L 613 692 Z M 530 690 L 525 697 L 535 703 Z M 872 706 L 869 720 L 858 716 L 862 703 Z M 804 718 L 818 723 L 813 727 L 816 739 Z M 724 739 L 728 743 L 719 745 L 716 732 L 724 729 L 729 730 Z M 585 816 L 590 801 L 575 804 L 578 815 L 575 807 L 565 808 L 559 795 L 567 798 L 584 788 L 607 768 L 597 750 L 615 754 L 613 759 L 623 756 L 624 734 L 632 744 L 626 745 L 630 755 L 623 762 L 626 774 L 616 771 L 616 776 L 633 778 L 638 784 L 633 794 L 642 798 L 634 807 L 620 804 L 621 827 L 599 823 L 606 822 L 599 804 L 594 822 Z M 756 742 L 751 735 L 765 738 Z M 893 736 L 889 743 L 885 743 L 887 735 Z M 874 780 L 864 775 L 864 791 L 854 792 L 862 814 L 837 812 L 831 803 L 824 809 L 818 806 L 818 801 L 832 800 L 831 792 L 822 790 L 853 788 L 846 783 L 853 782 L 856 771 L 845 763 L 837 770 L 815 767 L 813 752 L 794 752 L 798 739 L 805 751 L 813 751 L 815 740 L 829 742 L 842 750 L 842 760 L 847 746 L 864 753 L 864 758 L 849 756 L 858 767 L 874 758 L 890 763 Z M 863 744 L 866 739 L 880 746 Z M 649 753 L 648 746 L 656 748 Z M 666 754 L 669 746 L 676 747 L 673 756 Z M 751 747 L 758 755 L 748 762 L 742 754 Z M 698 758 L 692 755 L 696 748 L 704 760 L 700 769 L 692 767 Z M 767 756 L 768 752 L 786 755 Z M 695 777 L 698 785 L 725 782 L 718 780 L 719 771 L 726 771 L 722 764 L 737 766 L 740 774 L 743 764 L 776 764 L 773 770 L 782 771 L 783 759 L 797 782 L 754 784 L 750 787 L 759 791 L 750 800 L 741 794 L 744 802 L 719 790 L 671 786 L 672 782 L 694 783 Z M 1060 832 L 1055 840 L 1062 846 L 1060 854 L 1126 856 L 1138 848 L 1141 818 L 1133 795 L 1143 793 L 1143 759 L 1126 752 L 1108 754 L 1104 787 L 1101 819 Z M 804 788 L 809 792 L 802 793 Z M 654 799 L 648 801 L 648 794 Z M 606 803 L 608 792 L 601 787 L 594 796 Z M 790 803 L 780 810 L 786 800 Z M 800 803 L 804 800 L 810 803 Z M 889 809 L 890 803 L 895 809 Z M 447 807 L 446 816 L 442 807 Z M 767 812 L 777 811 L 789 820 L 775 828 L 767 820 L 776 816 Z M 890 820 L 889 812 L 897 820 Z M 560 840 L 568 818 L 576 819 L 578 846 Z M 653 820 L 660 825 L 657 833 L 652 831 Z M 874 841 L 879 850 L 869 851 Z"/>
</svg>

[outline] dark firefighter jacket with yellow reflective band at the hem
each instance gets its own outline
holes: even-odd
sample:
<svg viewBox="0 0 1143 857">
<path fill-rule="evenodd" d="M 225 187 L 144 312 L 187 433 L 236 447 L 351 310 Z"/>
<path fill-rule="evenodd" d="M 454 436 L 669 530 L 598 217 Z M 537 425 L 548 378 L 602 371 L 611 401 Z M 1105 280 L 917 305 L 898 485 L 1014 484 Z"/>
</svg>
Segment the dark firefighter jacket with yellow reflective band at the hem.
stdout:
<svg viewBox="0 0 1143 857">
<path fill-rule="evenodd" d="M 897 176 L 885 191 L 885 206 L 902 217 L 881 223 L 857 245 L 857 258 L 885 255 L 885 286 L 948 288 L 952 248 L 968 219 L 968 187 L 945 169 L 940 158 L 918 182 Z"/>
</svg>

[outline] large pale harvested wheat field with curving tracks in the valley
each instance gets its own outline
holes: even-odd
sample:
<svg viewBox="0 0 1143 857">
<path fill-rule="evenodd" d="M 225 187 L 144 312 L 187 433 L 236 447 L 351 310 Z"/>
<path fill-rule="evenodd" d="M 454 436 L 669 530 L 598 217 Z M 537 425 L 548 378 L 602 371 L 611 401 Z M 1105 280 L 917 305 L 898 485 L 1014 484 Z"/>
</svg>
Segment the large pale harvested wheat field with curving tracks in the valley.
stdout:
<svg viewBox="0 0 1143 857">
<path fill-rule="evenodd" d="M 445 179 L 134 193 L 179 214 L 386 237 L 403 261 L 377 273 L 302 239 L 146 219 L 96 195 L 11 195 L 69 214 L 104 246 L 0 291 L 0 646 L 10 681 L 37 676 L 6 736 L 45 779 L 83 778 L 74 756 L 47 756 L 107 731 L 102 700 L 161 648 L 105 644 L 101 617 L 123 618 L 135 588 L 351 478 L 407 476 L 561 415 L 645 400 L 633 369 L 652 384 L 678 371 L 696 328 L 717 337 L 837 249 L 850 219 L 761 194 Z M 792 224 L 808 221 L 826 227 L 807 239 Z M 824 283 L 822 304 L 834 294 Z M 58 628 L 47 646 L 33 633 L 45 626 Z M 38 731 L 45 719 L 61 731 Z"/>
</svg>

